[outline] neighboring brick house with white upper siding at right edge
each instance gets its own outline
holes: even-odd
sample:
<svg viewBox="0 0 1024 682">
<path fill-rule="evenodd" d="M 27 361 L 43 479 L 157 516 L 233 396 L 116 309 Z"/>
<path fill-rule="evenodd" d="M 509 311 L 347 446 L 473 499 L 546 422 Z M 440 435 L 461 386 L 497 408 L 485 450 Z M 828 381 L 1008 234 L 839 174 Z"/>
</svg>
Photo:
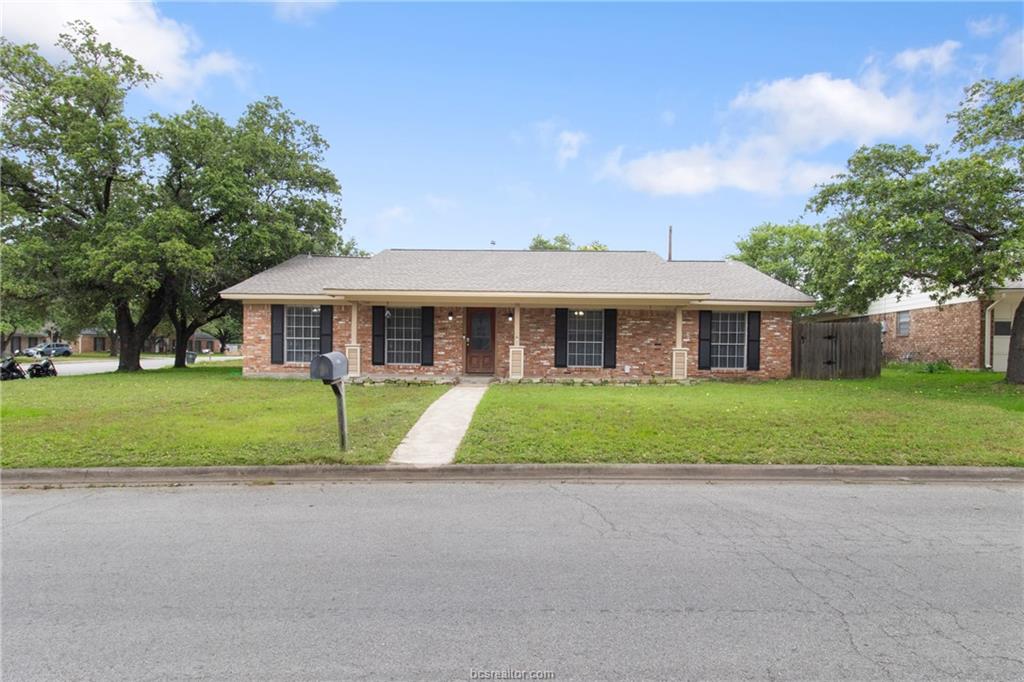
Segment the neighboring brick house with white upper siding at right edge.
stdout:
<svg viewBox="0 0 1024 682">
<path fill-rule="evenodd" d="M 887 360 L 948 360 L 967 370 L 1007 371 L 1014 311 L 1024 297 L 1024 281 L 995 289 L 992 298 L 952 298 L 942 305 L 922 292 L 880 298 L 855 319 L 882 323 Z"/>
</svg>

